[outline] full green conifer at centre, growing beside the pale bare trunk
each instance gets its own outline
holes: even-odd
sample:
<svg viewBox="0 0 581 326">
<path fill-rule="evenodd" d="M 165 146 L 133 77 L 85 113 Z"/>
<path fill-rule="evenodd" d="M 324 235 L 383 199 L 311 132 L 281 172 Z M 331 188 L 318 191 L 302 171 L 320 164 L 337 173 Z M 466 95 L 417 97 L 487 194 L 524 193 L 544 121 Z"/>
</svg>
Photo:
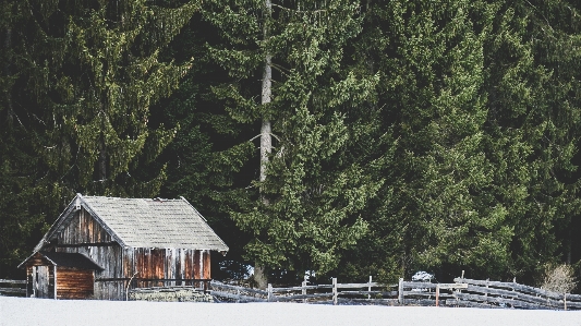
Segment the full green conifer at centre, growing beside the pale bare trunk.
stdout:
<svg viewBox="0 0 581 326">
<path fill-rule="evenodd" d="M 216 87 L 217 96 L 234 120 L 266 124 L 261 134 L 276 140 L 268 155 L 263 143 L 257 160 L 266 177 L 233 207 L 237 224 L 255 236 L 246 256 L 258 266 L 324 274 L 364 234 L 359 214 L 380 184 L 365 173 L 374 161 L 352 155 L 365 153 L 358 142 L 373 130 L 368 102 L 377 82 L 343 53 L 361 32 L 359 4 L 239 1 L 214 4 L 206 19 L 225 40 L 209 51 L 233 80 Z M 259 92 L 268 88 L 268 68 L 270 95 Z"/>
</svg>

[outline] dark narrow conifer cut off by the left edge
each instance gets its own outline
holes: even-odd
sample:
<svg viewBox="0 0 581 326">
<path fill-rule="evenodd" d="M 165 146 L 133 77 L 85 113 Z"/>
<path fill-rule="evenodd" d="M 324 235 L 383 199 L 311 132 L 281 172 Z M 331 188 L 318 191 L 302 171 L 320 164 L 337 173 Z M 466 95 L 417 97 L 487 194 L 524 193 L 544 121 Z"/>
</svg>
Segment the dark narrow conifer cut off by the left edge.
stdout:
<svg viewBox="0 0 581 326">
<path fill-rule="evenodd" d="M 0 278 L 19 278 L 20 259 L 29 254 L 27 239 L 43 225 L 43 216 L 31 212 L 38 197 L 29 130 L 15 99 L 15 83 L 25 69 L 19 60 L 20 31 L 25 29 L 26 12 L 16 1 L 3 1 L 0 13 Z"/>
</svg>

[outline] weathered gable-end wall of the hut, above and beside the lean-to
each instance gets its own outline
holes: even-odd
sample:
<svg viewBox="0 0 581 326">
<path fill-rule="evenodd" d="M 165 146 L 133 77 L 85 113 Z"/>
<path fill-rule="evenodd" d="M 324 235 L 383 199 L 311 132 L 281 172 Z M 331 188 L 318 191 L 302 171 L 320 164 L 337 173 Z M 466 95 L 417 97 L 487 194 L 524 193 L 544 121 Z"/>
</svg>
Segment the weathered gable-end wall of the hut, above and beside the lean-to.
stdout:
<svg viewBox="0 0 581 326">
<path fill-rule="evenodd" d="M 76 212 L 57 239 L 57 252 L 85 254 L 104 268 L 104 270 L 95 271 L 93 298 L 124 300 L 125 281 L 123 278 L 126 277 L 123 264 L 124 251 L 121 245 L 113 242 L 107 230 L 88 212 L 85 209 Z"/>
</svg>

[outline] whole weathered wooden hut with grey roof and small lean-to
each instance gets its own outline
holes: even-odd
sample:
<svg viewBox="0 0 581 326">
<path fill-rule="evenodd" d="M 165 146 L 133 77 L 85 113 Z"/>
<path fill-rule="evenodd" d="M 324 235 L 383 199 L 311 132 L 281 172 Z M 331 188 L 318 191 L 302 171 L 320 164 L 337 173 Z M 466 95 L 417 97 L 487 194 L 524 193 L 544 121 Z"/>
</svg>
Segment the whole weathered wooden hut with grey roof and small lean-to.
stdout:
<svg viewBox="0 0 581 326">
<path fill-rule="evenodd" d="M 123 300 L 133 288 L 201 287 L 210 251 L 228 246 L 183 197 L 77 194 L 19 267 L 28 297 Z"/>
</svg>

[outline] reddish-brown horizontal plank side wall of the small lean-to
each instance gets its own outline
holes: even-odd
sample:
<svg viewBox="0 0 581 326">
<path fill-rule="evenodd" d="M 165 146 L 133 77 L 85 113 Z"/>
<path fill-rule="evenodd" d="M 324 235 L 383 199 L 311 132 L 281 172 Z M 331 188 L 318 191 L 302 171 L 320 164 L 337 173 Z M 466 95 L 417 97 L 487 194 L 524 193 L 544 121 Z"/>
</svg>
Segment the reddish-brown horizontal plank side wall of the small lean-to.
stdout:
<svg viewBox="0 0 581 326">
<path fill-rule="evenodd" d="M 57 267 L 57 299 L 93 298 L 93 270 Z"/>
</svg>

